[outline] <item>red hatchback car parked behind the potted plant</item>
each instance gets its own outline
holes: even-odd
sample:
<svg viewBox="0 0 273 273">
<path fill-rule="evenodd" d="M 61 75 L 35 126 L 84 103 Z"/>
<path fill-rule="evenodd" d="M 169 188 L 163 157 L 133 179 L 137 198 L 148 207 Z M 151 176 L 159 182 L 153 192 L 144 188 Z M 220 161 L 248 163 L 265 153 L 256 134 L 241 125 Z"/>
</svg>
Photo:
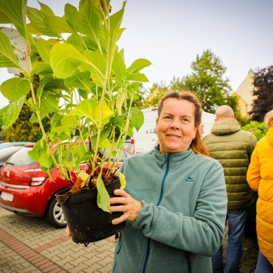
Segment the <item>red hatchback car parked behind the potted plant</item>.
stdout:
<svg viewBox="0 0 273 273">
<path fill-rule="evenodd" d="M 0 174 L 0 206 L 26 216 L 45 217 L 55 228 L 64 228 L 66 221 L 55 194 L 71 187 L 71 183 L 62 179 L 57 169 L 51 171 L 55 182 L 50 181 L 38 162 L 31 160 L 27 154 L 33 146 L 26 145 L 3 165 Z M 130 155 L 130 151 L 123 149 L 118 167 Z"/>
</svg>

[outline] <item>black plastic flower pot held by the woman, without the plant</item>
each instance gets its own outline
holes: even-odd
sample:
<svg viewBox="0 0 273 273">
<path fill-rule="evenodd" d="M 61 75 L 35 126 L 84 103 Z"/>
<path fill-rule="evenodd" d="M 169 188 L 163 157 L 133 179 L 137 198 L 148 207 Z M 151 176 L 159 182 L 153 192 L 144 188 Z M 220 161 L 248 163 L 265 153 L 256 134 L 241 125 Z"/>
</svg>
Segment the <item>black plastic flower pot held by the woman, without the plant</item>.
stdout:
<svg viewBox="0 0 273 273">
<path fill-rule="evenodd" d="M 106 185 L 110 197 L 114 197 L 113 190 L 120 188 L 120 179 Z M 87 244 L 100 241 L 116 235 L 123 228 L 126 222 L 113 225 L 111 221 L 123 213 L 103 211 L 97 207 L 97 188 L 69 195 L 66 202 L 64 195 L 70 190 L 66 188 L 59 191 L 55 196 L 61 205 L 66 223 L 69 226 L 71 237 L 77 244 Z M 64 203 L 64 204 L 63 204 Z"/>
</svg>

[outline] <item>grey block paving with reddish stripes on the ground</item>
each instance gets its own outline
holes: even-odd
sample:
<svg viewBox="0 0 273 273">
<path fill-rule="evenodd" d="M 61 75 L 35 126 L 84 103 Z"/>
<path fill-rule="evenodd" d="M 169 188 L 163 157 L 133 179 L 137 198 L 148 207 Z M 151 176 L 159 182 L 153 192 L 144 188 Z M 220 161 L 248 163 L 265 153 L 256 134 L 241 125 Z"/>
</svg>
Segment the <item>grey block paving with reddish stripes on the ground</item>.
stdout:
<svg viewBox="0 0 273 273">
<path fill-rule="evenodd" d="M 0 272 L 111 272 L 114 248 L 114 237 L 87 247 L 77 245 L 66 237 L 65 229 L 52 228 L 44 219 L 13 214 L 0 207 Z M 240 273 L 254 273 L 258 257 L 255 236 L 244 236 L 243 250 Z"/>
</svg>

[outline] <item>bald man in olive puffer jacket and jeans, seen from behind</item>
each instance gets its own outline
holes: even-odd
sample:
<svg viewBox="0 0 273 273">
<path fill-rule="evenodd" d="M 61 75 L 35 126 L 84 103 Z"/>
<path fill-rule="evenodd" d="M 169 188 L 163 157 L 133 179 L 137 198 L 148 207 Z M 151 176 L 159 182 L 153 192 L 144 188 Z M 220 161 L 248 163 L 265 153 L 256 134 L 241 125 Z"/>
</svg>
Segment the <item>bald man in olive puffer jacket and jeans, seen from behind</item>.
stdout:
<svg viewBox="0 0 273 273">
<path fill-rule="evenodd" d="M 212 258 L 212 267 L 214 273 L 238 273 L 247 209 L 255 202 L 246 181 L 246 172 L 257 139 L 251 132 L 241 130 L 230 106 L 219 106 L 215 115 L 216 122 L 211 128 L 211 134 L 207 134 L 202 140 L 207 144 L 211 157 L 218 160 L 224 168 L 228 193 L 228 248 L 225 270 L 223 246 Z"/>
</svg>

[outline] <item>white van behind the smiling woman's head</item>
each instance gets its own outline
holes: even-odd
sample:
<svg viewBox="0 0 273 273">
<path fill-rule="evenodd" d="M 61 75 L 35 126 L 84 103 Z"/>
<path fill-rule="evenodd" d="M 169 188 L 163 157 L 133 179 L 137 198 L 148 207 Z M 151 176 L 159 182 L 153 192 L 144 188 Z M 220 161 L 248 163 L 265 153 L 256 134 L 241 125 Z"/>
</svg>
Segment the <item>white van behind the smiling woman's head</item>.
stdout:
<svg viewBox="0 0 273 273">
<path fill-rule="evenodd" d="M 134 138 L 131 139 L 134 153 L 150 151 L 158 141 L 158 136 L 155 134 L 155 120 L 158 118 L 158 107 L 147 108 L 141 111 L 144 113 L 144 125 L 141 126 L 139 132 L 134 131 Z M 202 112 L 203 137 L 211 132 L 214 120 L 214 114 Z"/>
</svg>

